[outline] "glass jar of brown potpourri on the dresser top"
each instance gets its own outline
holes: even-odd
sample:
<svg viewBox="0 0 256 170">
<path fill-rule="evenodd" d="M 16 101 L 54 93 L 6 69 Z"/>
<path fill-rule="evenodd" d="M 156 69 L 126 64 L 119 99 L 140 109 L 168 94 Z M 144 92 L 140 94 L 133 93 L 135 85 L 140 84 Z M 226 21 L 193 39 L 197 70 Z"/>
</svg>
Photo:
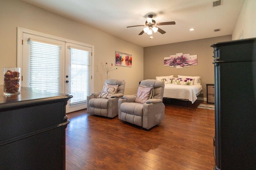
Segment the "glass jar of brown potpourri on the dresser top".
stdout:
<svg viewBox="0 0 256 170">
<path fill-rule="evenodd" d="M 4 95 L 20 94 L 20 68 L 4 67 Z"/>
</svg>

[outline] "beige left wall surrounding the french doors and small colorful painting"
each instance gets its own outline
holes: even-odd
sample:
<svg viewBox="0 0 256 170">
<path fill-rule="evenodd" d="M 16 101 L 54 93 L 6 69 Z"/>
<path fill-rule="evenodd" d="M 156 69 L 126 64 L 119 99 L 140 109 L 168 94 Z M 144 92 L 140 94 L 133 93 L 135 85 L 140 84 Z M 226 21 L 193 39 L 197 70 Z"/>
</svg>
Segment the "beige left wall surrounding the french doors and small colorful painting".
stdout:
<svg viewBox="0 0 256 170">
<path fill-rule="evenodd" d="M 108 78 L 125 80 L 125 94 L 137 92 L 143 79 L 143 47 L 20 0 L 0 0 L 0 70 L 16 67 L 17 27 L 94 45 L 94 91 L 101 91 L 106 79 L 101 63 L 114 63 L 115 51 L 131 54 L 132 67 L 117 66 Z"/>
</svg>

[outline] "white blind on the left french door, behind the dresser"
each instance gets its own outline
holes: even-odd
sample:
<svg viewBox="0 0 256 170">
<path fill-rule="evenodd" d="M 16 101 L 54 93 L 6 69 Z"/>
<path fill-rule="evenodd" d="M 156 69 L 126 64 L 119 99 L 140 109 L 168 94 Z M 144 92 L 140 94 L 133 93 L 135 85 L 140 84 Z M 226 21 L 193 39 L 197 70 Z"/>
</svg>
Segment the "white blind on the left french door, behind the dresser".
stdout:
<svg viewBox="0 0 256 170">
<path fill-rule="evenodd" d="M 29 39 L 30 87 L 48 92 L 60 92 L 61 46 Z"/>
</svg>

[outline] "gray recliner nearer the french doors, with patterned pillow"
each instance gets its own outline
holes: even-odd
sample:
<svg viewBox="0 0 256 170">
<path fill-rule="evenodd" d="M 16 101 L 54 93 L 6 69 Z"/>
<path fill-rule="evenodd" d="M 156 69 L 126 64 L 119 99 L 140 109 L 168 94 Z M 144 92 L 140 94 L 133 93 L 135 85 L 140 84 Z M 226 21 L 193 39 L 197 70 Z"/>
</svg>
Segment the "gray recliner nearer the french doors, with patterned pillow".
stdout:
<svg viewBox="0 0 256 170">
<path fill-rule="evenodd" d="M 114 89 L 115 85 L 117 89 Z M 90 96 L 87 96 L 87 113 L 110 118 L 117 116 L 118 99 L 124 96 L 124 88 L 124 80 L 106 80 L 102 92 L 92 92 Z M 116 90 L 116 93 L 113 94 L 112 90 Z"/>
</svg>

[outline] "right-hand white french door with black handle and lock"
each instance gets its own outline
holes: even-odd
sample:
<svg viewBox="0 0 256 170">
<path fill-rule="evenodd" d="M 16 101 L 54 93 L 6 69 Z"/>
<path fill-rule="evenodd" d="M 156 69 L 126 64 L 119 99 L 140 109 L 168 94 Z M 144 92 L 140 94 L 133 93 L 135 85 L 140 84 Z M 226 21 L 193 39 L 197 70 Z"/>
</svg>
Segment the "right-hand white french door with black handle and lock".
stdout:
<svg viewBox="0 0 256 170">
<path fill-rule="evenodd" d="M 86 108 L 90 94 L 92 48 L 73 43 L 65 45 L 65 93 L 73 96 L 68 100 L 67 112 Z"/>
</svg>

